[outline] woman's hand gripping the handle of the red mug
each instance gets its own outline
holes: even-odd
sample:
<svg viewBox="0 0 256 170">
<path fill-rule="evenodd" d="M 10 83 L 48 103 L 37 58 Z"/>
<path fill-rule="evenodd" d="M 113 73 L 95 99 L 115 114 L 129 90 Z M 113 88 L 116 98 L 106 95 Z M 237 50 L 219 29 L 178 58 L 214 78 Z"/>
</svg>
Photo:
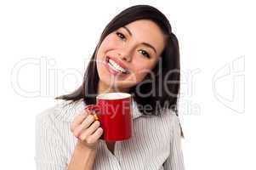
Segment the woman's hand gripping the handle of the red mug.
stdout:
<svg viewBox="0 0 256 170">
<path fill-rule="evenodd" d="M 96 149 L 103 129 L 100 127 L 100 122 L 95 121 L 92 111 L 85 109 L 75 116 L 71 123 L 71 132 L 77 137 L 77 144 Z"/>
</svg>

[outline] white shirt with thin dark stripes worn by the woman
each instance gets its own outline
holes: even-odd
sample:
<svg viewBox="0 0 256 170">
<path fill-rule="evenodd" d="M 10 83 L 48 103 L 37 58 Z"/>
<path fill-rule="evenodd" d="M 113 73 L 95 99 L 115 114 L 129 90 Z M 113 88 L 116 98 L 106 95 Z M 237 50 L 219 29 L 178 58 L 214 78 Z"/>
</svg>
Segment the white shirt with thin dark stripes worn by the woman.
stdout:
<svg viewBox="0 0 256 170">
<path fill-rule="evenodd" d="M 37 170 L 64 170 L 77 143 L 71 133 L 71 122 L 84 108 L 82 99 L 76 103 L 61 100 L 37 115 Z M 100 139 L 94 170 L 184 170 L 179 117 L 173 111 L 162 116 L 144 116 L 133 99 L 133 136 L 117 141 L 114 154 Z"/>
</svg>

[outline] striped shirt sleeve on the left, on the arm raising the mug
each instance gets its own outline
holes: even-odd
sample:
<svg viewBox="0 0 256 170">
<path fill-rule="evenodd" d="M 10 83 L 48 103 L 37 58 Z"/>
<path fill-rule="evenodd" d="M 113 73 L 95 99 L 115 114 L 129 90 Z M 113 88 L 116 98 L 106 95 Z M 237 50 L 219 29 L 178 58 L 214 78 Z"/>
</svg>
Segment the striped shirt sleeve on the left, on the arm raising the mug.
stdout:
<svg viewBox="0 0 256 170">
<path fill-rule="evenodd" d="M 66 158 L 60 129 L 54 118 L 43 112 L 36 118 L 36 167 L 37 170 L 65 170 Z"/>
</svg>

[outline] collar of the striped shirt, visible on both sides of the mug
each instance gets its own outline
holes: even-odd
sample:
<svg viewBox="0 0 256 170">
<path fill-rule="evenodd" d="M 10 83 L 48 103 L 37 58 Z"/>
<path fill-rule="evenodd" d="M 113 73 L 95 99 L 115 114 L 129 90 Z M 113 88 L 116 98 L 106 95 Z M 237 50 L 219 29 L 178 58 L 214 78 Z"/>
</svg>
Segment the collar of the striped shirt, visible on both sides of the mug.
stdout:
<svg viewBox="0 0 256 170">
<path fill-rule="evenodd" d="M 75 102 L 61 100 L 57 107 L 54 109 L 54 116 L 64 122 L 72 122 L 74 117 L 77 116 L 85 107 L 83 99 Z M 137 103 L 132 98 L 132 117 L 133 119 L 142 116 L 142 113 L 138 109 Z"/>
</svg>

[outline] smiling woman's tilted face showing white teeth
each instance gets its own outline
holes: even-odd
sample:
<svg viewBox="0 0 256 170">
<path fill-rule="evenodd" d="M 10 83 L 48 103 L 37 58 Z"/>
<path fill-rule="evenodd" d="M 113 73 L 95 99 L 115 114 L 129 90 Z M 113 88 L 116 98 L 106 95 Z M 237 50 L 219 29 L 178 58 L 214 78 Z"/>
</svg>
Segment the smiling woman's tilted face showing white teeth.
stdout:
<svg viewBox="0 0 256 170">
<path fill-rule="evenodd" d="M 128 91 L 156 66 L 165 36 L 151 20 L 136 20 L 111 32 L 96 55 L 99 88 Z"/>
</svg>

